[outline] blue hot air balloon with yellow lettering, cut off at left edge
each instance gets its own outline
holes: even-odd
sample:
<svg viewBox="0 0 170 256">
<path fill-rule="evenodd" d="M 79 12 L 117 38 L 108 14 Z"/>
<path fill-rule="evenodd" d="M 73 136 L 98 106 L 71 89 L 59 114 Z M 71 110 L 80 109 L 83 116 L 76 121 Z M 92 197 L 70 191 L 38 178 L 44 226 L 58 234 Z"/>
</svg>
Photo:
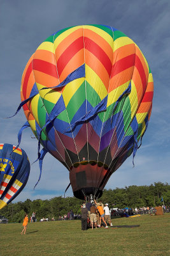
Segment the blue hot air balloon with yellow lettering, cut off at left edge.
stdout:
<svg viewBox="0 0 170 256">
<path fill-rule="evenodd" d="M 23 149 L 0 144 L 0 209 L 24 189 L 29 172 L 29 159 Z"/>
</svg>

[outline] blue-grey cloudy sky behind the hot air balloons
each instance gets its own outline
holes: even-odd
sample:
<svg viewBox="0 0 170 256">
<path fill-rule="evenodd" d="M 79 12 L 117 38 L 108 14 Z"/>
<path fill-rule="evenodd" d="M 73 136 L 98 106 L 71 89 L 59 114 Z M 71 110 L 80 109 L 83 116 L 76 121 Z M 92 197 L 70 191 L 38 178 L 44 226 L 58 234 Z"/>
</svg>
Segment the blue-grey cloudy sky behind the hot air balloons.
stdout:
<svg viewBox="0 0 170 256">
<path fill-rule="evenodd" d="M 24 112 L 10 116 L 20 103 L 20 81 L 27 61 L 43 40 L 59 29 L 82 24 L 113 26 L 132 38 L 150 65 L 154 80 L 153 109 L 143 145 L 113 173 L 106 188 L 169 182 L 170 161 L 170 2 L 169 0 L 7 0 L 0 1 L 0 143 L 17 144 L 17 133 L 25 123 Z M 37 141 L 31 129 L 22 135 L 20 147 L 32 163 Z M 38 180 L 38 163 L 31 165 L 29 181 L 13 201 L 46 199 L 64 195 L 69 172 L 50 154 L 43 161 Z M 72 196 L 69 188 L 67 196 Z"/>
</svg>

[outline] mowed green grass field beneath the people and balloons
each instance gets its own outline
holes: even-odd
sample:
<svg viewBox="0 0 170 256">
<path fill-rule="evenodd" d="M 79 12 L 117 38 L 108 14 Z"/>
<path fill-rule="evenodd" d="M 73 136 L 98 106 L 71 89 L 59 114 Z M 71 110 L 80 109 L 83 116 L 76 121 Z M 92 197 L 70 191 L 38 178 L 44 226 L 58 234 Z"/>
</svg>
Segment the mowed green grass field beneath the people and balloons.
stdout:
<svg viewBox="0 0 170 256">
<path fill-rule="evenodd" d="M 29 223 L 26 235 L 22 224 L 0 225 L 1 256 L 150 256 L 170 255 L 170 214 L 118 218 L 113 225 L 140 225 L 128 228 L 97 228 L 81 231 L 81 221 Z"/>
</svg>

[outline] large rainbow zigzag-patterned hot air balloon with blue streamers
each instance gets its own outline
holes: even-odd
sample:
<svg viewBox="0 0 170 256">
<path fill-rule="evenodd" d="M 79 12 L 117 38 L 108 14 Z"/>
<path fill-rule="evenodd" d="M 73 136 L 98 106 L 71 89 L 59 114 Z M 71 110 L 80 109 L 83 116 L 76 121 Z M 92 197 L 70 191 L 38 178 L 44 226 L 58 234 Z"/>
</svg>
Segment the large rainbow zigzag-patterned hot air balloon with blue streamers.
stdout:
<svg viewBox="0 0 170 256">
<path fill-rule="evenodd" d="M 97 198 L 135 156 L 152 98 L 152 73 L 131 38 L 110 26 L 85 25 L 39 45 L 22 75 L 20 108 L 24 126 L 43 146 L 39 159 L 52 154 L 69 170 L 74 196 Z"/>
</svg>

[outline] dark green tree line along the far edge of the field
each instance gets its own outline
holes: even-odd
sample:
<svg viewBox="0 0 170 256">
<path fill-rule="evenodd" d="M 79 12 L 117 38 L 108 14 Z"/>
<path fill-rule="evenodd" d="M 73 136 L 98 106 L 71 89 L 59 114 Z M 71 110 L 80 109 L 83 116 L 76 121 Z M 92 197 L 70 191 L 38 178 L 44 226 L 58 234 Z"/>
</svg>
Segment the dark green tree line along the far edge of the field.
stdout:
<svg viewBox="0 0 170 256">
<path fill-rule="evenodd" d="M 162 202 L 162 198 L 164 202 Z M 129 186 L 125 188 L 104 189 L 103 196 L 99 199 L 104 204 L 108 203 L 110 208 L 124 207 L 155 207 L 162 204 L 170 205 L 170 185 L 168 183 L 155 182 L 150 186 Z M 9 222 L 21 222 L 25 212 L 31 216 L 36 212 L 36 219 L 55 218 L 67 214 L 71 209 L 74 214 L 80 214 L 82 200 L 75 197 L 62 196 L 50 200 L 30 199 L 25 202 L 10 203 L 0 210 L 0 215 L 8 218 Z"/>
</svg>

